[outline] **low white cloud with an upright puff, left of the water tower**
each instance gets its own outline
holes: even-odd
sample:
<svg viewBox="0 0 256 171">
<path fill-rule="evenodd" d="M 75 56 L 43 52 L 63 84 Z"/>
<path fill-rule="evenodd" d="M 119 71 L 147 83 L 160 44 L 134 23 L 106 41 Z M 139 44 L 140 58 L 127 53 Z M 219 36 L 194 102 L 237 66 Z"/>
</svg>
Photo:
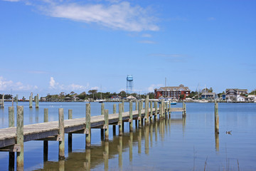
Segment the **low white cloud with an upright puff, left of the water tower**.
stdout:
<svg viewBox="0 0 256 171">
<path fill-rule="evenodd" d="M 52 90 L 87 90 L 89 88 L 89 83 L 87 83 L 86 86 L 81 86 L 75 83 L 67 86 L 56 82 L 53 77 L 50 77 L 49 88 Z"/>
</svg>

